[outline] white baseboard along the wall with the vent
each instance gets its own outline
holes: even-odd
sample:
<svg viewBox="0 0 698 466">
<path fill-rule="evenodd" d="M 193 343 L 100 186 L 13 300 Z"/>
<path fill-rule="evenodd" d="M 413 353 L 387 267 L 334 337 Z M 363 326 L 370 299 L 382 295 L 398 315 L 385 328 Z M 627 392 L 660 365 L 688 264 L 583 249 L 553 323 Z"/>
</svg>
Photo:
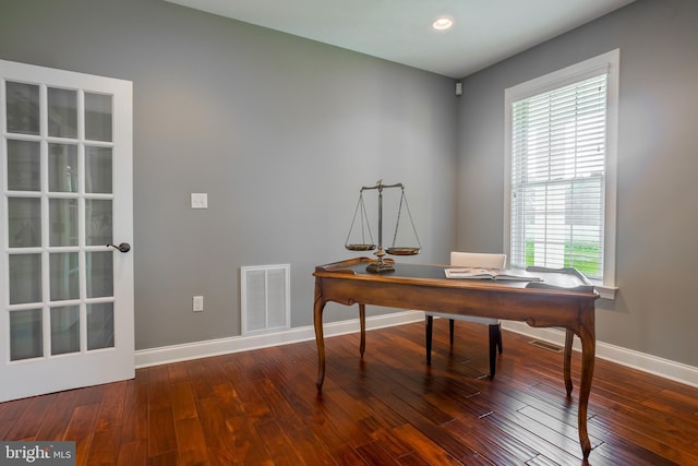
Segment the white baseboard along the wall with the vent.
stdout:
<svg viewBox="0 0 698 466">
<path fill-rule="evenodd" d="M 366 318 L 366 330 L 401 325 L 418 321 L 424 321 L 424 313 L 421 311 L 394 312 Z M 329 322 L 323 325 L 323 333 L 325 337 L 357 333 L 359 331 L 359 319 Z M 230 338 L 218 338 L 205 342 L 186 343 L 183 345 L 140 349 L 135 351 L 135 367 L 146 368 L 170 362 L 266 348 L 269 346 L 308 342 L 311 339 L 315 339 L 315 328 L 312 325 L 253 336 L 233 336 Z"/>
</svg>

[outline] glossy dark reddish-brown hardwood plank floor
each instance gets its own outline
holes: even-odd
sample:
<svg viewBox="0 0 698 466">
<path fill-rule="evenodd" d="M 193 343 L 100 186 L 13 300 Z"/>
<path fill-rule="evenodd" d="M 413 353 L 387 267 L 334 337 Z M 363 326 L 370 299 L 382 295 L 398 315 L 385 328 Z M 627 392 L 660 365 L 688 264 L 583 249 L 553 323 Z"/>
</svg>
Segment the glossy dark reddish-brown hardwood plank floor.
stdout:
<svg viewBox="0 0 698 466">
<path fill-rule="evenodd" d="M 562 354 L 434 322 L 158 366 L 132 381 L 0 404 L 0 439 L 74 440 L 79 465 L 579 465 L 576 389 Z M 579 355 L 573 358 L 578 383 Z M 597 359 L 591 465 L 698 465 L 698 389 Z"/>
</svg>

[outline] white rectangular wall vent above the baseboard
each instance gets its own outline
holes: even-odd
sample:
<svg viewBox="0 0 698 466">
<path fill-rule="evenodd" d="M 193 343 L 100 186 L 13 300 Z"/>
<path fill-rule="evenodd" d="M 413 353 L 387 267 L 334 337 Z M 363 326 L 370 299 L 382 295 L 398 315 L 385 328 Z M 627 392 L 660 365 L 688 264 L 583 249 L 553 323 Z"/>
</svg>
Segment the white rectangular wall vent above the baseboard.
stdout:
<svg viewBox="0 0 698 466">
<path fill-rule="evenodd" d="M 242 334 L 290 328 L 291 265 L 254 265 L 240 271 Z"/>
</svg>

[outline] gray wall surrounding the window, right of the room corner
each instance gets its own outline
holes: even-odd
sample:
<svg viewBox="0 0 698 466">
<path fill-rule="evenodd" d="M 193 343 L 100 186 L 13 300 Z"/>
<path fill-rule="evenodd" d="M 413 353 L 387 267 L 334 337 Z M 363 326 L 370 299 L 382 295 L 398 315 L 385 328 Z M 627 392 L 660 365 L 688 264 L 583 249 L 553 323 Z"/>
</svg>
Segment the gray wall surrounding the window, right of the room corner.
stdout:
<svg viewBox="0 0 698 466">
<path fill-rule="evenodd" d="M 501 249 L 504 89 L 619 48 L 619 291 L 599 301 L 597 336 L 690 366 L 698 366 L 696 25 L 694 0 L 638 0 L 466 79 L 457 195 L 458 248 Z"/>
</svg>

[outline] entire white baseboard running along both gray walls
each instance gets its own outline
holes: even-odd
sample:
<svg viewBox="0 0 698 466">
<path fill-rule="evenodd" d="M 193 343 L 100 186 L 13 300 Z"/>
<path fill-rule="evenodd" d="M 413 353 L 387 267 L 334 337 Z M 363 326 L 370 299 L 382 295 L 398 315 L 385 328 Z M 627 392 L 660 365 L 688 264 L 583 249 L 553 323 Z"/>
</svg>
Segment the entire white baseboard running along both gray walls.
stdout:
<svg viewBox="0 0 698 466">
<path fill-rule="evenodd" d="M 366 318 L 366 330 L 421 322 L 423 320 L 424 313 L 421 311 L 394 312 L 390 314 Z M 543 339 L 556 345 L 564 346 L 565 344 L 565 333 L 561 330 L 534 328 L 522 322 L 510 321 L 502 322 L 502 326 L 512 332 Z M 326 323 L 323 326 L 323 330 L 325 337 L 356 333 L 359 332 L 359 319 Z M 315 330 L 310 325 L 270 334 L 234 336 L 230 338 L 209 339 L 206 342 L 194 342 L 160 348 L 140 349 L 135 351 L 135 366 L 136 368 L 146 368 L 170 362 L 227 355 L 230 353 L 249 351 L 251 349 L 266 348 L 269 346 L 308 342 L 314 338 Z M 575 338 L 574 348 L 578 351 L 580 350 L 579 338 Z M 597 342 L 597 357 L 698 387 L 698 368 L 691 366 L 658 358 L 655 356 L 646 355 L 603 342 Z"/>
</svg>

